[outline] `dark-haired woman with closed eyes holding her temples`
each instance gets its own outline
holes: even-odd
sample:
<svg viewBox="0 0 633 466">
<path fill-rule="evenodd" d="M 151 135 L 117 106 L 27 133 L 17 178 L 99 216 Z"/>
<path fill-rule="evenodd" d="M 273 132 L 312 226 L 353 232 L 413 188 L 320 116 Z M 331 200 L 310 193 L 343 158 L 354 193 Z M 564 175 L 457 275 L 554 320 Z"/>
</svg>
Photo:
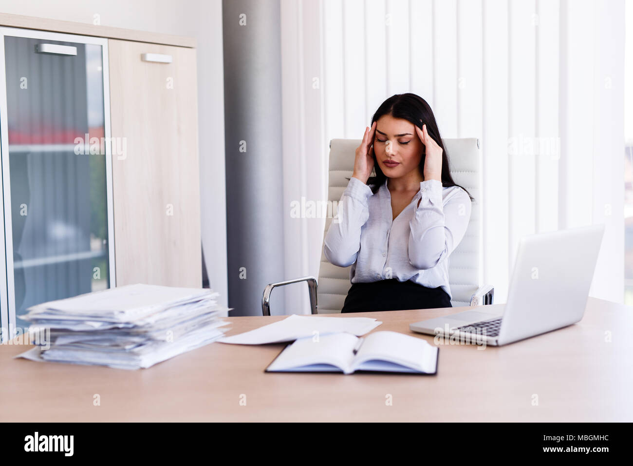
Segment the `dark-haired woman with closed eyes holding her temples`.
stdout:
<svg viewBox="0 0 633 466">
<path fill-rule="evenodd" d="M 429 104 L 411 93 L 385 100 L 325 235 L 327 260 L 352 266 L 341 312 L 451 307 L 448 258 L 472 200 L 451 177 Z"/>
</svg>

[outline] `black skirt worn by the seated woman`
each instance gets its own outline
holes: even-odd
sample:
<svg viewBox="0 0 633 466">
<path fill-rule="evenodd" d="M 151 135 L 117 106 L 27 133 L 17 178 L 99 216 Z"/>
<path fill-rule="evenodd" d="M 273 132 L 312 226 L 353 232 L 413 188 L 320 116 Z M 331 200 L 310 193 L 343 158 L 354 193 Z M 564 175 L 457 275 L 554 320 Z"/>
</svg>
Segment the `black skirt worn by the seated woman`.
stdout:
<svg viewBox="0 0 633 466">
<path fill-rule="evenodd" d="M 427 288 L 411 280 L 399 282 L 397 278 L 390 278 L 370 283 L 352 283 L 341 313 L 434 307 L 453 307 L 448 293 L 442 287 Z"/>
</svg>

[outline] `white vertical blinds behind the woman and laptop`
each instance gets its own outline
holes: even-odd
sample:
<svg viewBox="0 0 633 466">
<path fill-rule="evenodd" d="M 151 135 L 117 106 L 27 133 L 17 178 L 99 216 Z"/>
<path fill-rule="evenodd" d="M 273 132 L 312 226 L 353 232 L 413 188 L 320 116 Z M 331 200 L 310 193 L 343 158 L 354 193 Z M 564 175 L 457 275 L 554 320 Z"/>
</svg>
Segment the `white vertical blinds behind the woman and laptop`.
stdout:
<svg viewBox="0 0 633 466">
<path fill-rule="evenodd" d="M 623 301 L 624 0 L 282 0 L 282 37 L 287 209 L 327 199 L 330 139 L 417 93 L 444 138 L 482 141 L 495 302 L 522 235 L 592 223 L 606 231 L 589 294 Z M 287 278 L 318 276 L 323 224 L 289 219 Z"/>
</svg>

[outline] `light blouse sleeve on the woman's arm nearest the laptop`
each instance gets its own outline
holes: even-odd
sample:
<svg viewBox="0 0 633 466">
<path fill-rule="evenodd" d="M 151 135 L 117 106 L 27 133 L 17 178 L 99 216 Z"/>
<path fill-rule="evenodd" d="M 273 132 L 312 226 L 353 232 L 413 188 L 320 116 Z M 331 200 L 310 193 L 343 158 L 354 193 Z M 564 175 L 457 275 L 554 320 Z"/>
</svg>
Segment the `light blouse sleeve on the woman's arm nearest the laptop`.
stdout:
<svg viewBox="0 0 633 466">
<path fill-rule="evenodd" d="M 472 206 L 464 190 L 442 205 L 442 183 L 437 179 L 421 181 L 420 193 L 420 205 L 410 221 L 409 263 L 425 270 L 437 266 L 461 242 Z"/>
</svg>

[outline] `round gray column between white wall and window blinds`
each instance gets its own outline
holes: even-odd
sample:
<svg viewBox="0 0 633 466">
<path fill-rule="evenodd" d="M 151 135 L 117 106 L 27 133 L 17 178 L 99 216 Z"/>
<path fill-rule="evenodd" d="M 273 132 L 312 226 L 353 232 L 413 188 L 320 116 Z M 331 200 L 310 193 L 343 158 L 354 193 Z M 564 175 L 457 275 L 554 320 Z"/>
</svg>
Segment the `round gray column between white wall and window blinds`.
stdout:
<svg viewBox="0 0 633 466">
<path fill-rule="evenodd" d="M 280 4 L 279 0 L 225 0 L 222 16 L 227 264 L 229 307 L 235 308 L 229 315 L 253 316 L 261 315 L 264 287 L 287 278 Z M 200 131 L 210 136 L 201 151 L 213 150 L 213 129 Z M 272 313 L 282 313 L 283 303 L 284 290 L 275 289 Z"/>
</svg>

